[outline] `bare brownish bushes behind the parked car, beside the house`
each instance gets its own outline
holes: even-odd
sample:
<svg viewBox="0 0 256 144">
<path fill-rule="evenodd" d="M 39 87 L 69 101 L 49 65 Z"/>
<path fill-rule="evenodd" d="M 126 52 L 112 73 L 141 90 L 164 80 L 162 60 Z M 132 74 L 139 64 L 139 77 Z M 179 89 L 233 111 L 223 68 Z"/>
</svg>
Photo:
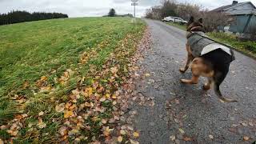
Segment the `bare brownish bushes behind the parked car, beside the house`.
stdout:
<svg viewBox="0 0 256 144">
<path fill-rule="evenodd" d="M 174 0 L 162 0 L 160 6 L 153 6 L 146 10 L 146 18 L 159 19 L 168 16 L 179 17 L 189 20 L 190 16 L 194 18 L 203 18 L 206 31 L 218 30 L 218 26 L 226 26 L 228 24 L 228 16 L 225 13 L 216 13 L 202 6 L 190 3 L 178 3 Z"/>
</svg>

